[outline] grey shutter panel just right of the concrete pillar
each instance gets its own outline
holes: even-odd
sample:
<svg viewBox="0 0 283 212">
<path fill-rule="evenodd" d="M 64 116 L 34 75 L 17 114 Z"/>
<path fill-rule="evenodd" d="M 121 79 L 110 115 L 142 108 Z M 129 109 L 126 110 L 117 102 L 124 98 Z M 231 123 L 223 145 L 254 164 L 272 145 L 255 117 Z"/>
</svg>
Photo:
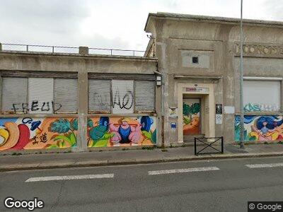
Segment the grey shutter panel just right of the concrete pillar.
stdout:
<svg viewBox="0 0 283 212">
<path fill-rule="evenodd" d="M 88 111 L 97 113 L 111 112 L 111 81 L 88 80 Z"/>
</svg>

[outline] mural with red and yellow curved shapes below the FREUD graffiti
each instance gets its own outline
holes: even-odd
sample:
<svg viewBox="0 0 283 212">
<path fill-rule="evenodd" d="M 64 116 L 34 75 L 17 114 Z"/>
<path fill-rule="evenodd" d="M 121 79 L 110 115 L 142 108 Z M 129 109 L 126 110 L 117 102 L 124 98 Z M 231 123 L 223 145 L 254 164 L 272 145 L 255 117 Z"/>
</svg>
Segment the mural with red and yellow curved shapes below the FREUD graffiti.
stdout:
<svg viewBox="0 0 283 212">
<path fill-rule="evenodd" d="M 0 118 L 0 151 L 76 146 L 77 118 Z"/>
</svg>

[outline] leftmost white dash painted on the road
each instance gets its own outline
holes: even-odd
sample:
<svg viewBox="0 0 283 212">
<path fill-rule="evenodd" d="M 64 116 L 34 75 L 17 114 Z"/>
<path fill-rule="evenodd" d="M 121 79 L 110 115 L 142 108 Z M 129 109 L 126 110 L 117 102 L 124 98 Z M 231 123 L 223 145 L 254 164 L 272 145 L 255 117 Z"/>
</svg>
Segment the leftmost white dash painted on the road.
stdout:
<svg viewBox="0 0 283 212">
<path fill-rule="evenodd" d="M 114 174 L 30 177 L 27 180 L 25 180 L 25 182 L 40 182 L 40 181 L 70 180 L 70 179 L 99 179 L 99 178 L 113 178 L 113 177 Z"/>
</svg>

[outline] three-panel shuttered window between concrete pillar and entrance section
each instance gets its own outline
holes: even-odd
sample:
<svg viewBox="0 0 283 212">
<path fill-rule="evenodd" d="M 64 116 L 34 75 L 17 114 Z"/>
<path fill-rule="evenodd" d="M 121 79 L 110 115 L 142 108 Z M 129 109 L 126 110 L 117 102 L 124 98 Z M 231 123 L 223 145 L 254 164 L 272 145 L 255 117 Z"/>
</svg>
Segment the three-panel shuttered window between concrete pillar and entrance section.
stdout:
<svg viewBox="0 0 283 212">
<path fill-rule="evenodd" d="M 88 112 L 113 114 L 155 112 L 155 81 L 90 78 Z"/>
</svg>

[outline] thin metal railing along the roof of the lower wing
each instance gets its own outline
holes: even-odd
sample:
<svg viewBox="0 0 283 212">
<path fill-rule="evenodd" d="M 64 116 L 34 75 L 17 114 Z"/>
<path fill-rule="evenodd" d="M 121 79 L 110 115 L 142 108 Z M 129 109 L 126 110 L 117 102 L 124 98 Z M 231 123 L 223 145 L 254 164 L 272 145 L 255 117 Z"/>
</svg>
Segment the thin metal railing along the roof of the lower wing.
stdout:
<svg viewBox="0 0 283 212">
<path fill-rule="evenodd" d="M 52 52 L 52 53 L 77 53 L 79 47 L 50 46 L 50 45 L 25 45 L 13 43 L 1 43 L 2 50 L 24 51 L 24 52 Z M 152 56 L 151 56 L 151 53 Z M 146 52 L 133 49 L 107 49 L 107 48 L 88 48 L 88 54 L 108 54 L 137 57 L 154 57 L 154 52 Z"/>
</svg>

